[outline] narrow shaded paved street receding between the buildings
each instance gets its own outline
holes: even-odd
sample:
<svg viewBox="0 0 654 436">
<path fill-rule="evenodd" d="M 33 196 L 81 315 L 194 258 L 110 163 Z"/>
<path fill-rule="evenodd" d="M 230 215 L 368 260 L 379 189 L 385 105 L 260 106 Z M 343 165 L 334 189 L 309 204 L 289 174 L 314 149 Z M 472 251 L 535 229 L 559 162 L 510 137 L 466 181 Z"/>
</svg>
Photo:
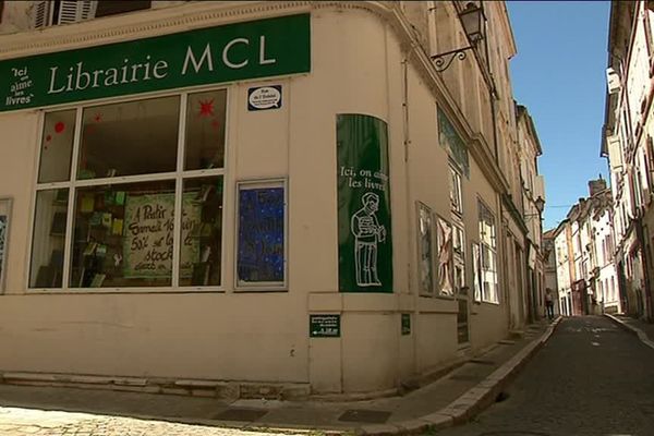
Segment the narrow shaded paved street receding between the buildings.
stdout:
<svg viewBox="0 0 654 436">
<path fill-rule="evenodd" d="M 444 436 L 646 436 L 654 432 L 654 350 L 598 316 L 564 319 L 506 390 Z"/>
</svg>

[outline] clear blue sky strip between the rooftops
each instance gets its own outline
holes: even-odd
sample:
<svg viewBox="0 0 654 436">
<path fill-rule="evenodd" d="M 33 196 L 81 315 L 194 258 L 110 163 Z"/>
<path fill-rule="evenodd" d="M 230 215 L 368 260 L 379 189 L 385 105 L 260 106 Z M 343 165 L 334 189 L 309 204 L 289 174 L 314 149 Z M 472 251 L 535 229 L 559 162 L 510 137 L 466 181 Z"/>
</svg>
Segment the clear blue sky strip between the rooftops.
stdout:
<svg viewBox="0 0 654 436">
<path fill-rule="evenodd" d="M 588 182 L 608 167 L 600 157 L 609 1 L 507 1 L 518 53 L 513 96 L 536 125 L 545 177 L 544 230 L 589 195 Z"/>
</svg>

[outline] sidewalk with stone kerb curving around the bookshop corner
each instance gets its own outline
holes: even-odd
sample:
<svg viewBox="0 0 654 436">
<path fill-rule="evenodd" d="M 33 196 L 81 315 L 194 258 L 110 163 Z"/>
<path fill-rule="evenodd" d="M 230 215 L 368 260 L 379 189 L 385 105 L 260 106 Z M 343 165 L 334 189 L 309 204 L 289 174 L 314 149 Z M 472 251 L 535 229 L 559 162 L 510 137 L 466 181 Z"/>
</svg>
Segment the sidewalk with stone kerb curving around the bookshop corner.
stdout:
<svg viewBox="0 0 654 436">
<path fill-rule="evenodd" d="M 124 434 L 207 434 L 216 428 L 228 427 L 258 432 L 306 433 L 320 431 L 334 434 L 396 435 L 437 431 L 465 422 L 491 405 L 506 384 L 526 361 L 549 339 L 560 317 L 554 323 L 538 323 L 525 330 L 517 340 L 502 340 L 483 355 L 470 360 L 440 379 L 402 397 L 380 398 L 355 402 L 319 401 L 266 401 L 237 400 L 227 402 L 213 398 L 191 398 L 152 393 L 117 392 L 52 387 L 24 387 L 0 385 L 0 431 L 13 426 L 16 435 L 21 425 L 29 425 L 16 419 L 29 411 L 26 408 L 51 411 L 84 412 L 88 414 L 63 414 L 47 412 L 56 416 L 57 425 L 65 422 L 65 416 L 85 422 L 87 436 Z M 36 412 L 33 412 L 36 413 Z M 46 412 L 40 412 L 46 413 Z M 46 413 L 46 414 L 47 414 Z M 55 413 L 56 415 L 52 415 Z M 59 413 L 59 414 L 57 414 Z M 110 416 L 99 416 L 110 415 Z M 63 416 L 63 417 L 62 417 Z M 82 417 L 81 417 L 82 416 Z M 166 422 L 138 421 L 116 416 L 133 416 L 143 420 L 169 421 L 174 423 L 199 424 L 189 429 L 173 429 Z M 15 421 L 20 421 L 16 423 Z M 23 421 L 21 421 L 23 420 Z M 63 421 L 62 421 L 63 420 Z M 73 420 L 73 421 L 74 421 Z M 104 422 L 102 422 L 104 420 Z M 47 421 L 47 420 L 46 420 Z M 126 424 L 126 423 L 132 424 Z M 121 424 L 122 423 L 122 424 Z M 37 426 L 28 431 L 32 435 L 76 435 L 73 424 L 66 424 L 65 433 L 55 426 Z M 73 427 L 71 427 L 73 425 Z M 122 433 L 117 428 L 129 425 Z M 136 433 L 133 426 L 146 425 L 149 433 Z M 167 427 L 167 433 L 154 431 Z M 34 426 L 33 426 L 34 427 Z M 187 426 L 184 426 L 187 427 Z M 41 429 L 39 429 L 41 428 Z M 62 427 L 63 428 L 63 427 Z M 98 428 L 98 429 L 94 429 Z M 98 433 L 99 432 L 99 433 Z M 2 432 L 3 435 L 9 433 Z M 24 433 L 27 434 L 27 433 Z M 220 434 L 230 434 L 222 431 Z"/>
</svg>

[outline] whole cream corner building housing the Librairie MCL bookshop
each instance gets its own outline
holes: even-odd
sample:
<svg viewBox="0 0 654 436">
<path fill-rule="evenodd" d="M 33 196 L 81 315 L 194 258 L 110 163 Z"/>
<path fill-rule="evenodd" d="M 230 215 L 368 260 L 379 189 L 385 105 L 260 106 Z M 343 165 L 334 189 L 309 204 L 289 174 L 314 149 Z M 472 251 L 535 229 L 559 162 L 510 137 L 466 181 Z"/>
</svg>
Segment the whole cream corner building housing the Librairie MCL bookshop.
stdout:
<svg viewBox="0 0 654 436">
<path fill-rule="evenodd" d="M 388 395 L 529 320 L 502 2 L 2 4 L 4 383 Z"/>
</svg>

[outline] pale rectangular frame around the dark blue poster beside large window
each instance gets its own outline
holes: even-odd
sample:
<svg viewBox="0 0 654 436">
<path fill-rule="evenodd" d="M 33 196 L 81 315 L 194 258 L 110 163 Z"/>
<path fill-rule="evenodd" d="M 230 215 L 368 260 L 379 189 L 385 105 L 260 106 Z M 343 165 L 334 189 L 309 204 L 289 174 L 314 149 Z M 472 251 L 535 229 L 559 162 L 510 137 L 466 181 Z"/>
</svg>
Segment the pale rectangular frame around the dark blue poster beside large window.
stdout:
<svg viewBox="0 0 654 436">
<path fill-rule="evenodd" d="M 255 187 L 282 187 L 283 189 L 283 280 L 262 281 L 257 283 L 239 282 L 239 227 L 240 227 L 240 193 L 241 186 Z M 234 187 L 234 261 L 233 261 L 233 289 L 234 293 L 246 292 L 287 292 L 289 290 L 289 190 L 287 178 L 264 178 L 239 180 Z"/>
</svg>

